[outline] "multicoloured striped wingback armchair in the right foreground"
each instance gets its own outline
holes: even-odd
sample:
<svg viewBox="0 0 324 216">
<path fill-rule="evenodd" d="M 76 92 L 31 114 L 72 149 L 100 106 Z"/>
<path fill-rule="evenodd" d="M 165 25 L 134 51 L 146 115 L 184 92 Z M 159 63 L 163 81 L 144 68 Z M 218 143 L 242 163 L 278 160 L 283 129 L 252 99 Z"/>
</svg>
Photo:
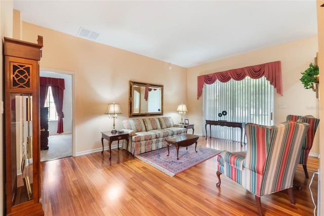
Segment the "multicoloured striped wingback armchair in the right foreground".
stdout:
<svg viewBox="0 0 324 216">
<path fill-rule="evenodd" d="M 248 123 L 246 152 L 222 151 L 217 156 L 217 186 L 223 173 L 255 195 L 258 213 L 263 215 L 261 196 L 288 189 L 295 204 L 293 179 L 309 125 L 282 122 L 274 126 Z"/>
</svg>

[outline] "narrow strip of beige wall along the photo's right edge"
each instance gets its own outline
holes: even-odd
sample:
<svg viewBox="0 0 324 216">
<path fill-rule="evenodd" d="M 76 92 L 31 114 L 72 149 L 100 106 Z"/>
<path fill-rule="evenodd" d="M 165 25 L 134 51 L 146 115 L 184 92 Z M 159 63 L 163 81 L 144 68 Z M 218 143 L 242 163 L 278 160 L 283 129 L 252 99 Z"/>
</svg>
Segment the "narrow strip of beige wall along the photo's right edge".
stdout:
<svg viewBox="0 0 324 216">
<path fill-rule="evenodd" d="M 324 77 L 324 7 L 320 7 L 324 4 L 324 1 L 317 1 L 317 33 L 318 33 L 318 67 L 319 67 L 319 77 L 322 79 Z M 321 80 L 320 80 L 321 82 Z M 319 94 L 324 95 L 324 88 L 323 85 L 319 85 Z M 319 116 L 320 118 L 324 116 L 324 99 L 322 96 L 320 96 L 320 109 L 319 110 Z M 321 169 L 320 171 L 320 209 L 318 215 L 324 215 L 324 175 L 323 175 L 323 167 L 324 167 L 324 120 L 321 118 L 319 122 L 319 154 L 321 155 L 321 158 L 319 159 L 319 167 Z"/>
</svg>

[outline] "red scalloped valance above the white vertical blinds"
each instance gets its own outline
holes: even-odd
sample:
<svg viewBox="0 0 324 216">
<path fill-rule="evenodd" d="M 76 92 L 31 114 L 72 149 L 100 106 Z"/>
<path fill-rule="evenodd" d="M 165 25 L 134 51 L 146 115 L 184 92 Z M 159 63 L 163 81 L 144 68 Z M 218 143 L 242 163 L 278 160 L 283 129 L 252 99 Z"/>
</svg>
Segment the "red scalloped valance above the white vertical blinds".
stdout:
<svg viewBox="0 0 324 216">
<path fill-rule="evenodd" d="M 197 99 L 203 93 L 204 84 L 213 84 L 216 80 L 222 83 L 228 82 L 230 79 L 243 80 L 246 76 L 252 79 L 259 79 L 265 77 L 271 85 L 277 90 L 277 93 L 282 93 L 282 80 L 281 80 L 281 62 L 274 61 L 254 66 L 241 67 L 237 69 L 226 70 L 214 74 L 201 75 L 197 77 Z"/>
</svg>

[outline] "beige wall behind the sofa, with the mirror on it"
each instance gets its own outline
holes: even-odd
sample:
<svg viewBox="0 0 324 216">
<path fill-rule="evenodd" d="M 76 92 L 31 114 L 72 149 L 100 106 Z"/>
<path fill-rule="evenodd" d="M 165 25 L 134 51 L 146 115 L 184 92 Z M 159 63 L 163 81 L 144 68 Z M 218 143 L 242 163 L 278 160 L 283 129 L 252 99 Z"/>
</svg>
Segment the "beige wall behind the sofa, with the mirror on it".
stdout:
<svg viewBox="0 0 324 216">
<path fill-rule="evenodd" d="M 186 102 L 186 68 L 169 69 L 167 62 L 22 22 L 23 41 L 36 43 L 37 35 L 44 38 L 41 68 L 75 75 L 76 155 L 101 148 L 100 132 L 112 129 L 104 115 L 108 103 L 120 103 L 123 114 L 115 124 L 121 129 L 128 118 L 129 80 L 164 85 L 164 114 L 180 122 L 176 109 Z"/>
</svg>

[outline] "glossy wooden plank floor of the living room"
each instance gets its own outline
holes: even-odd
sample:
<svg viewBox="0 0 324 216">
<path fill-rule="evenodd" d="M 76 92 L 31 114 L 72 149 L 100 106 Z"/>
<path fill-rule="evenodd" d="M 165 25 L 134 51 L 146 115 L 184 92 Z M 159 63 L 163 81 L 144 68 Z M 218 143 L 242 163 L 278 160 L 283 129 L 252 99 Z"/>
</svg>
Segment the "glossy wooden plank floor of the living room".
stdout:
<svg viewBox="0 0 324 216">
<path fill-rule="evenodd" d="M 199 137 L 198 146 L 243 151 L 239 143 Z M 158 169 L 112 150 L 42 162 L 45 215 L 258 215 L 254 195 L 221 175 L 217 187 L 216 157 L 170 177 Z M 298 165 L 296 204 L 287 191 L 261 198 L 265 215 L 313 215 L 310 183 L 318 159 L 309 157 L 305 178 Z M 317 175 L 311 190 L 317 205 Z"/>
</svg>

